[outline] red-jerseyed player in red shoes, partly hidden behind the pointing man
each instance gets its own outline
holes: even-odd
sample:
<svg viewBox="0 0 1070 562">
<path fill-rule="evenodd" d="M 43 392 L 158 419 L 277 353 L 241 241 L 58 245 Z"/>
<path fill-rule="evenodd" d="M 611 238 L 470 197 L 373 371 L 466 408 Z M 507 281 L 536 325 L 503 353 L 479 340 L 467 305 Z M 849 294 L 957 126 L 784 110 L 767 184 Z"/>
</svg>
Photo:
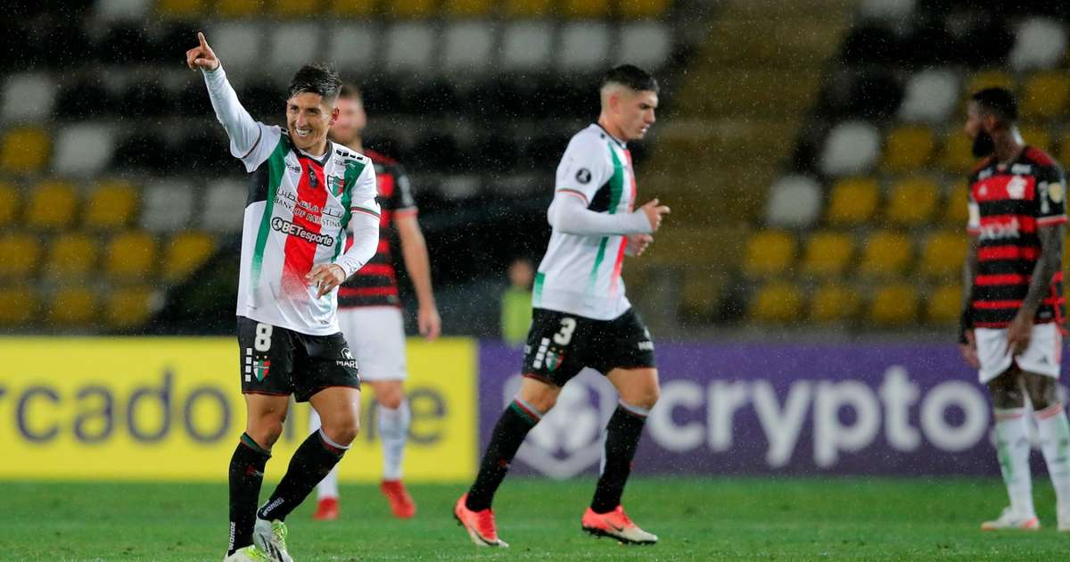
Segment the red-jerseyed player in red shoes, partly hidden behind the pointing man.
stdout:
<svg viewBox="0 0 1070 562">
<path fill-rule="evenodd" d="M 416 319 L 421 335 L 428 339 L 439 337 L 441 320 L 434 305 L 427 245 L 416 222 L 416 202 L 409 177 L 397 162 L 378 152 L 364 150 L 362 134 L 368 118 L 355 87 L 342 86 L 336 106 L 338 120 L 331 126 L 331 139 L 371 160 L 382 206 L 379 249 L 371 261 L 338 289 L 338 322 L 346 340 L 353 346 L 362 381 L 371 385 L 379 402 L 379 437 L 383 442 L 383 481 L 380 489 L 389 501 L 394 515 L 404 519 L 416 514 L 416 504 L 401 483 L 401 459 L 411 416 L 401 386 L 406 379 L 404 320 L 401 318 L 394 260 L 391 258 L 392 225 L 397 227 L 406 269 L 416 289 L 419 303 Z M 311 410 L 309 426 L 312 431 L 320 426 L 320 416 L 315 409 Z M 320 482 L 318 490 L 319 505 L 312 517 L 337 519 L 337 467 Z"/>
</svg>

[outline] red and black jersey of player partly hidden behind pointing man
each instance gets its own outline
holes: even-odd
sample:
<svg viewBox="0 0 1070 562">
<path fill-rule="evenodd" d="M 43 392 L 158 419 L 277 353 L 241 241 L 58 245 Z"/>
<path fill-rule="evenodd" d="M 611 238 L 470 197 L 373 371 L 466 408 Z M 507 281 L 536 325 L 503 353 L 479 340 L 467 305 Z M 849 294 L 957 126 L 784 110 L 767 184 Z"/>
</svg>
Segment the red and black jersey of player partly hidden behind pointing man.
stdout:
<svg viewBox="0 0 1070 562">
<path fill-rule="evenodd" d="M 393 158 L 371 150 L 364 154 L 376 167 L 382 209 L 379 223 L 379 248 L 374 257 L 338 288 L 338 306 L 400 306 L 394 258 L 391 256 L 391 229 L 394 217 L 416 213 L 412 185 L 404 169 Z"/>
</svg>

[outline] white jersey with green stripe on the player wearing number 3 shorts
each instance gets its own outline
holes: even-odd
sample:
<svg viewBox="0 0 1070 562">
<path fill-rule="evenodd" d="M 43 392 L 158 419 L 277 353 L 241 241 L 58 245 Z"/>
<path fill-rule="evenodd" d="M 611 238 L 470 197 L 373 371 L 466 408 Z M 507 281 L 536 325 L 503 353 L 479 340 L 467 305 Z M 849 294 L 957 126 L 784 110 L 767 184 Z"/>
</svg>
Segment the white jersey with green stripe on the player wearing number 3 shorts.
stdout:
<svg viewBox="0 0 1070 562">
<path fill-rule="evenodd" d="M 563 195 L 579 198 L 590 211 L 631 213 L 636 176 L 625 145 L 597 124 L 577 133 L 557 166 L 554 197 Z M 532 305 L 596 320 L 626 313 L 631 303 L 621 269 L 627 243 L 626 236 L 569 234 L 555 225 L 535 275 Z"/>
</svg>

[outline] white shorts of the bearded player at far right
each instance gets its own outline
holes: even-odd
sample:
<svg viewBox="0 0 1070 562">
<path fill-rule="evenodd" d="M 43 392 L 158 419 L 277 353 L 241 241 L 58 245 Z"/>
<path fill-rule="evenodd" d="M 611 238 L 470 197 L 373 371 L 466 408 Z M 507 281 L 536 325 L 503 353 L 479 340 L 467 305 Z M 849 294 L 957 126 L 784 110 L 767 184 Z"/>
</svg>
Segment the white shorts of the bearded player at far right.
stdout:
<svg viewBox="0 0 1070 562">
<path fill-rule="evenodd" d="M 1059 377 L 1059 362 L 1063 361 L 1063 331 L 1058 324 L 1049 322 L 1035 324 L 1029 347 L 1020 355 L 1012 358 L 1007 348 L 1007 330 L 978 328 L 974 330 L 977 338 L 977 359 L 981 362 L 979 378 L 987 383 L 1007 370 L 1011 363 L 1018 363 L 1019 368 L 1038 375 Z"/>
</svg>

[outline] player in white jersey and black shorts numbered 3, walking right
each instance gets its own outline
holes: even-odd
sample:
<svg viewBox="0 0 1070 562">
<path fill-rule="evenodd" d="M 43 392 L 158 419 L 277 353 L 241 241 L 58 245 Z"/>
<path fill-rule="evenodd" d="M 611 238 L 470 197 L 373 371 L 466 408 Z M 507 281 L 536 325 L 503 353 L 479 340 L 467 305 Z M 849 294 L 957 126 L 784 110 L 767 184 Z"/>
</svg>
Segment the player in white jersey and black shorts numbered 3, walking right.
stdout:
<svg viewBox="0 0 1070 562">
<path fill-rule="evenodd" d="M 557 166 L 547 213 L 553 231 L 535 276 L 520 391 L 494 426 L 475 483 L 454 506 L 479 546 L 508 546 L 498 537 L 494 492 L 524 436 L 583 367 L 601 371 L 621 400 L 606 428 L 601 475 L 581 525 L 622 543 L 658 540 L 621 506 L 643 424 L 659 394 L 654 343 L 621 279 L 625 255 L 642 254 L 669 212 L 657 199 L 632 211 L 636 177 L 626 146 L 654 124 L 658 85 L 646 72 L 623 65 L 606 74 L 600 94 L 598 123 L 572 137 Z"/>
</svg>

